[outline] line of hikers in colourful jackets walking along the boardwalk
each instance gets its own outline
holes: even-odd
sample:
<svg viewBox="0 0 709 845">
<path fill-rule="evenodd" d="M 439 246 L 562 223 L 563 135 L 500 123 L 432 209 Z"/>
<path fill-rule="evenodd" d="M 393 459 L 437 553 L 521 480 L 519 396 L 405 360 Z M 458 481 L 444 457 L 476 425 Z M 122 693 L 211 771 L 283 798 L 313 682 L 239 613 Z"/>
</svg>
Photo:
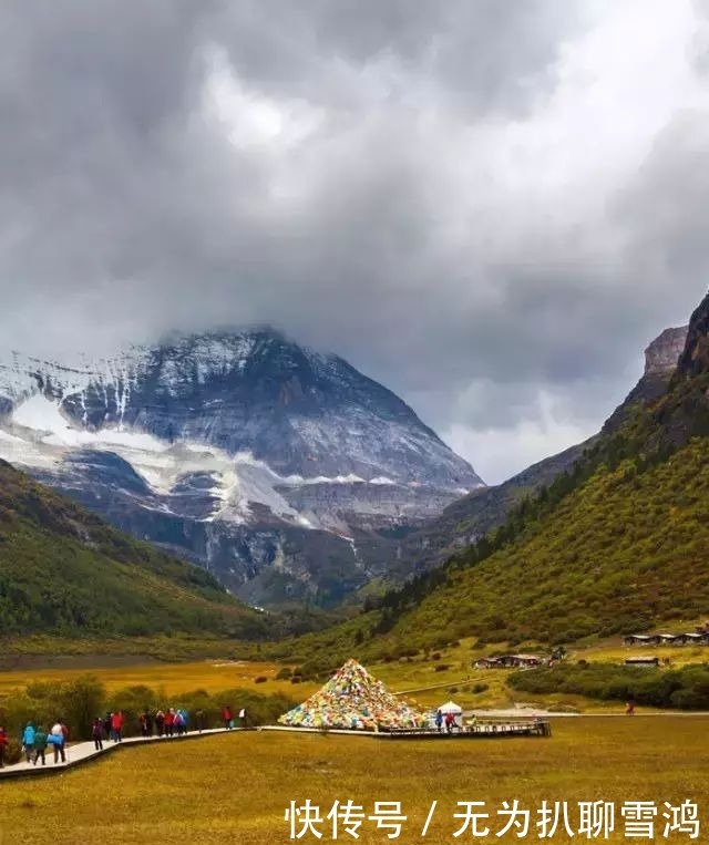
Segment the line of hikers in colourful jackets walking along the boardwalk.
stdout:
<svg viewBox="0 0 709 845">
<path fill-rule="evenodd" d="M 141 736 L 182 736 L 193 727 L 198 733 L 207 728 L 207 714 L 201 708 L 194 712 L 194 720 L 184 708 L 168 708 L 167 710 L 150 710 L 144 708 L 137 718 L 137 727 Z M 234 711 L 229 704 L 224 704 L 219 711 L 220 727 L 232 730 L 236 727 Z M 239 711 L 238 718 L 243 727 L 246 727 L 246 710 Z M 107 712 L 104 717 L 97 715 L 91 723 L 91 738 L 96 751 L 103 750 L 104 742 L 121 742 L 125 727 L 125 717 L 121 710 Z M 66 743 L 69 742 L 69 728 L 62 720 L 58 720 L 49 732 L 43 725 L 28 722 L 22 729 L 20 736 L 22 753 L 28 763 L 47 764 L 47 750 L 51 745 L 54 752 L 54 763 L 66 762 Z M 0 769 L 6 762 L 6 754 L 10 738 L 6 729 L 0 725 Z"/>
</svg>

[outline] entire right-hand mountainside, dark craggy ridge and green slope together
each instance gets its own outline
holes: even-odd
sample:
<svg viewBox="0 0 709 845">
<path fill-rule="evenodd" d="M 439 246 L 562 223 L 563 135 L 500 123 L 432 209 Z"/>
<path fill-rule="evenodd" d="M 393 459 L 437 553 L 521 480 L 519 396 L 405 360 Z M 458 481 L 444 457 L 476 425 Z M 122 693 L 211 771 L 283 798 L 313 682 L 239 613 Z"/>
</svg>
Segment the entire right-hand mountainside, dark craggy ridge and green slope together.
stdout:
<svg viewBox="0 0 709 845">
<path fill-rule="evenodd" d="M 709 615 L 708 350 L 709 297 L 664 394 L 628 402 L 502 526 L 298 655 L 395 658 L 464 636 L 572 642 Z"/>
</svg>

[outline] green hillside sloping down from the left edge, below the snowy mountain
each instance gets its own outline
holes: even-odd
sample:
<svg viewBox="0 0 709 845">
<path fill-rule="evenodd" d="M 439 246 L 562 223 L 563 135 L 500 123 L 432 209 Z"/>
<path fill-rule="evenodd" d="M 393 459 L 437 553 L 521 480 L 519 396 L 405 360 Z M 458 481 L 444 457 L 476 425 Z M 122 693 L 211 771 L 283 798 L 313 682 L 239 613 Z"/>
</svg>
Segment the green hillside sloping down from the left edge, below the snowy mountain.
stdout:
<svg viewBox="0 0 709 845">
<path fill-rule="evenodd" d="M 3 636 L 263 637 L 263 615 L 206 571 L 116 532 L 0 462 L 0 630 Z"/>
</svg>

